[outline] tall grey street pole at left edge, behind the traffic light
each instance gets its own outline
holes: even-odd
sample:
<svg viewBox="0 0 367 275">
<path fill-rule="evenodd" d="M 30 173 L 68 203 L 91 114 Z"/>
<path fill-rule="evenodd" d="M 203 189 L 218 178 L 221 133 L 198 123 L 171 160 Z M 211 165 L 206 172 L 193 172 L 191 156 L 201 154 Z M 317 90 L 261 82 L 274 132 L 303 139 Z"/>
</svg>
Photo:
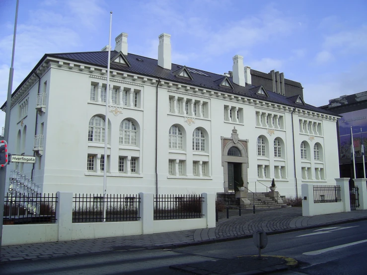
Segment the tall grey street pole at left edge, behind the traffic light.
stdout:
<svg viewBox="0 0 367 275">
<path fill-rule="evenodd" d="M 16 35 L 16 23 L 18 21 L 18 6 L 19 6 L 19 0 L 16 0 L 14 36 L 13 36 L 13 52 L 11 55 L 11 66 L 9 70 L 9 82 L 7 85 L 7 99 L 6 99 L 5 132 L 4 132 L 4 140 L 6 142 L 8 141 L 8 138 L 9 138 L 11 90 L 13 87 L 15 35 Z M 1 257 L 1 241 L 2 241 L 2 221 L 4 218 L 5 181 L 6 181 L 6 166 L 3 168 L 0 168 L 0 257 Z"/>
</svg>

